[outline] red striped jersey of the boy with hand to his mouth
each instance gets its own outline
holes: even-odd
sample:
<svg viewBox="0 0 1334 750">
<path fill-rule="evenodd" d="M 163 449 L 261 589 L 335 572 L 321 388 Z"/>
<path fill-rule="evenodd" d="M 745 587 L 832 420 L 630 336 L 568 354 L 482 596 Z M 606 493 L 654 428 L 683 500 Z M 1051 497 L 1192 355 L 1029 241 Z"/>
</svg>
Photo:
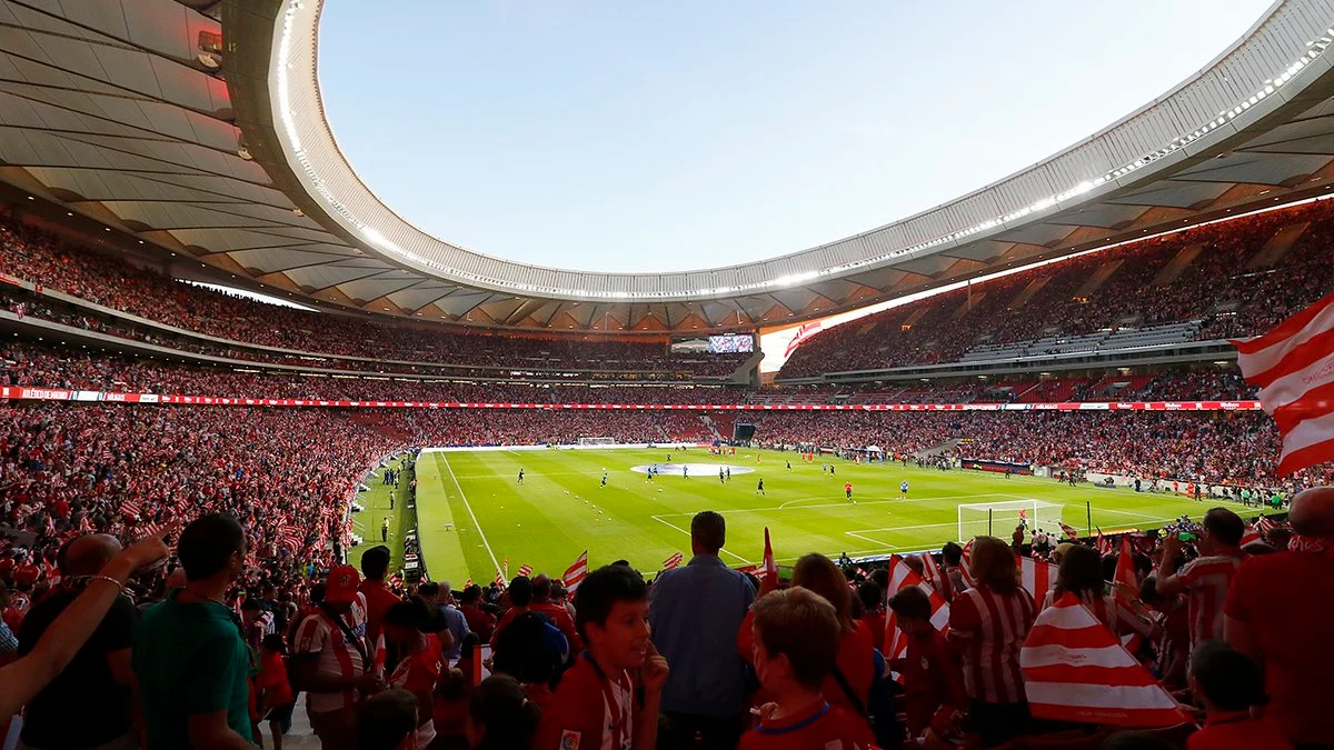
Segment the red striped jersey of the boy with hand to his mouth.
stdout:
<svg viewBox="0 0 1334 750">
<path fill-rule="evenodd" d="M 628 671 L 603 673 L 584 651 L 542 713 L 532 750 L 630 750 L 634 690 Z"/>
</svg>

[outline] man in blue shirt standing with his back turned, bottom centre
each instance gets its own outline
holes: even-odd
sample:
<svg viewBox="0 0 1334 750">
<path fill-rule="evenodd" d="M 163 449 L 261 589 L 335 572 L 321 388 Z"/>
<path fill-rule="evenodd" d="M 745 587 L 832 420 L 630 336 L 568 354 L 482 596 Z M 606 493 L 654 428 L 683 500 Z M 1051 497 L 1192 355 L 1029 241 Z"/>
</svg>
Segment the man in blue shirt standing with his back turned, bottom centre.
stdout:
<svg viewBox="0 0 1334 750">
<path fill-rule="evenodd" d="M 704 750 L 734 749 L 742 734 L 746 665 L 736 633 L 755 590 L 718 558 L 727 540 L 723 516 L 696 514 L 690 523 L 690 563 L 658 577 L 648 601 L 654 645 L 672 665 L 663 687 L 672 747 L 698 731 Z"/>
</svg>

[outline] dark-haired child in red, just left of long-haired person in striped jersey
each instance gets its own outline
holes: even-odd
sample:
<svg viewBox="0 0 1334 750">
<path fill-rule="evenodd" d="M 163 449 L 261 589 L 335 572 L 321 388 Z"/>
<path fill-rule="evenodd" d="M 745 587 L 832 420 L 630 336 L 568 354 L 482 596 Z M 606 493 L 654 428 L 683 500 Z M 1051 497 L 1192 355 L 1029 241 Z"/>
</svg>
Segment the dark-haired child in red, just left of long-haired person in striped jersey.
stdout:
<svg viewBox="0 0 1334 750">
<path fill-rule="evenodd" d="M 903 675 L 908 733 L 914 738 L 930 733 L 943 739 L 967 710 L 963 673 L 944 635 L 931 625 L 931 599 L 926 591 L 916 586 L 899 591 L 890 599 L 890 610 L 907 639 L 907 653 L 892 662 L 892 669 Z"/>
</svg>

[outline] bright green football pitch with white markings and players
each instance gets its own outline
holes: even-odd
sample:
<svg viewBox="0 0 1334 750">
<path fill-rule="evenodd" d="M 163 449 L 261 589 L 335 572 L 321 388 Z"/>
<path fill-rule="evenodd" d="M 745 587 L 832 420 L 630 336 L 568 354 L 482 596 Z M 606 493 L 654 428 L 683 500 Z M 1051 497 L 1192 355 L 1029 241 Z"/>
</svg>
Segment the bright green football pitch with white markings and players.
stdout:
<svg viewBox="0 0 1334 750">
<path fill-rule="evenodd" d="M 654 573 L 674 552 L 690 558 L 690 519 L 702 510 L 723 514 L 727 547 L 722 556 L 732 566 L 744 566 L 760 562 L 766 526 L 779 565 L 790 565 L 811 551 L 868 556 L 936 548 L 958 535 L 960 503 L 1059 503 L 1062 519 L 1081 534 L 1087 526 L 1086 502 L 1091 503 L 1093 523 L 1105 531 L 1154 528 L 1182 514 L 1199 518 L 1210 507 L 1171 495 L 1069 487 L 1053 479 L 858 466 L 840 459 L 832 459 L 835 474 L 830 476 L 822 472 L 819 459 L 806 463 L 795 454 L 755 450 L 738 450 L 726 458 L 710 456 L 704 448 L 671 451 L 675 464 L 707 464 L 688 478 L 662 475 L 650 482 L 634 471 L 655 462 L 666 470 L 667 452 L 423 454 L 416 467 L 416 511 L 431 578 L 455 586 L 467 578 L 490 582 L 506 558 L 510 575 L 524 563 L 560 575 L 586 548 L 592 567 L 628 559 Z M 719 482 L 718 467 L 726 466 L 734 467 L 732 478 Z M 600 486 L 603 468 L 606 487 Z M 764 495 L 756 492 L 760 478 Z M 910 486 L 906 499 L 899 492 L 903 480 Z M 855 504 L 844 498 L 846 482 L 852 482 Z M 1017 511 L 992 518 L 994 534 L 1009 539 Z"/>
</svg>

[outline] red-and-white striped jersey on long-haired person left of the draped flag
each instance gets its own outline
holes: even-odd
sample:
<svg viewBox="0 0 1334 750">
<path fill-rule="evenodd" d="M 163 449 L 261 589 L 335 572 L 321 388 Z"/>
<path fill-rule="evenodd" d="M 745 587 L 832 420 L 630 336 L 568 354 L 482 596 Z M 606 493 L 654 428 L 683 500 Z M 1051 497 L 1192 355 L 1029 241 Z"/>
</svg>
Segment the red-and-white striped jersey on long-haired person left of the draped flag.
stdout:
<svg viewBox="0 0 1334 750">
<path fill-rule="evenodd" d="M 1019 649 L 1033 630 L 1038 607 L 1025 589 L 996 594 L 990 587 L 968 589 L 950 606 L 950 639 L 963 657 L 963 685 L 968 697 L 984 703 L 1025 701 Z"/>
</svg>

